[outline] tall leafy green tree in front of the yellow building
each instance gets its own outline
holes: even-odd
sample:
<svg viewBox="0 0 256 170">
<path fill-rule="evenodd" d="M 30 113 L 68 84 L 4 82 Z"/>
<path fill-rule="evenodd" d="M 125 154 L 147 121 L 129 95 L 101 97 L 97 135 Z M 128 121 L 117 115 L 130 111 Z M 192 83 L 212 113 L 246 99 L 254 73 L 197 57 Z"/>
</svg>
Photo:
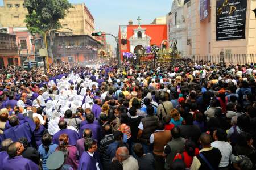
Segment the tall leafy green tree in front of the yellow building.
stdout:
<svg viewBox="0 0 256 170">
<path fill-rule="evenodd" d="M 24 7 L 28 10 L 25 19 L 28 30 L 44 35 L 49 29 L 61 27 L 59 20 L 65 18 L 72 5 L 68 0 L 25 0 Z M 49 35 L 49 56 L 53 58 L 54 32 L 50 32 Z"/>
</svg>

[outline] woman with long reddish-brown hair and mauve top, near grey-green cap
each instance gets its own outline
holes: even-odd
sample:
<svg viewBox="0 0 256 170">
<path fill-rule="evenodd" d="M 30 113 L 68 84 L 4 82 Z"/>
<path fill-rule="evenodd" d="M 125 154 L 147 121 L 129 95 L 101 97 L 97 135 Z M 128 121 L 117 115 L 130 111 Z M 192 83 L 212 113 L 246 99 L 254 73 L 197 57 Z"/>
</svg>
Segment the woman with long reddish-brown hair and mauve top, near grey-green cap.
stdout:
<svg viewBox="0 0 256 170">
<path fill-rule="evenodd" d="M 69 139 L 67 134 L 61 134 L 59 137 L 59 146 L 56 151 L 68 151 L 68 158 L 65 160 L 64 164 L 71 165 L 71 167 L 76 170 L 79 165 L 79 155 L 77 154 L 77 148 L 73 145 L 68 145 Z"/>
</svg>

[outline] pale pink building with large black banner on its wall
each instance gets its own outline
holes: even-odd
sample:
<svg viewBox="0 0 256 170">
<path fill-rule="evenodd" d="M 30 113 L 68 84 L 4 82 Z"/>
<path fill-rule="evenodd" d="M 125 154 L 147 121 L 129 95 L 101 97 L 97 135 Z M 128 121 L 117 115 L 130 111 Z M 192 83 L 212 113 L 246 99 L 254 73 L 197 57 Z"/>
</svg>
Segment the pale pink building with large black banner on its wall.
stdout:
<svg viewBox="0 0 256 170">
<path fill-rule="evenodd" d="M 246 1 L 174 0 L 169 43 L 183 55 L 256 54 L 256 1 Z"/>
</svg>

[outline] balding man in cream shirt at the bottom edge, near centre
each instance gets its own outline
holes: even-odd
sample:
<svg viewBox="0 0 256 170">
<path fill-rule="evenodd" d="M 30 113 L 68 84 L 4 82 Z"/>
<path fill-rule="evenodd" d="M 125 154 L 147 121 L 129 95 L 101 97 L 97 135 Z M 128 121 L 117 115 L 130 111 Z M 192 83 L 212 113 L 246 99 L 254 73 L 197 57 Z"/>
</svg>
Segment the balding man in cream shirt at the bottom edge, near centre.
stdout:
<svg viewBox="0 0 256 170">
<path fill-rule="evenodd" d="M 138 161 L 129 156 L 129 150 L 127 147 L 119 147 L 115 152 L 115 156 L 119 162 L 123 164 L 123 170 L 138 170 L 139 164 Z"/>
</svg>

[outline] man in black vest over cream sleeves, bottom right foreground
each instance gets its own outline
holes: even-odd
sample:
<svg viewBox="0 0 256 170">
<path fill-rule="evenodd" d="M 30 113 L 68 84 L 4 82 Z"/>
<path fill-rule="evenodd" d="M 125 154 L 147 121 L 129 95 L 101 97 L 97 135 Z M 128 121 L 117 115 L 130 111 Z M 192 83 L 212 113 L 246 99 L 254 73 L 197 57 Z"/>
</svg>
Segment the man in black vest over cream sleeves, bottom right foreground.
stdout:
<svg viewBox="0 0 256 170">
<path fill-rule="evenodd" d="M 218 148 L 210 145 L 212 143 L 212 137 L 207 133 L 202 133 L 200 143 L 203 148 L 199 151 L 199 155 L 194 156 L 190 168 L 192 170 L 218 169 L 222 156 Z"/>
</svg>

